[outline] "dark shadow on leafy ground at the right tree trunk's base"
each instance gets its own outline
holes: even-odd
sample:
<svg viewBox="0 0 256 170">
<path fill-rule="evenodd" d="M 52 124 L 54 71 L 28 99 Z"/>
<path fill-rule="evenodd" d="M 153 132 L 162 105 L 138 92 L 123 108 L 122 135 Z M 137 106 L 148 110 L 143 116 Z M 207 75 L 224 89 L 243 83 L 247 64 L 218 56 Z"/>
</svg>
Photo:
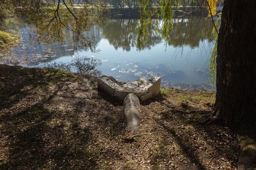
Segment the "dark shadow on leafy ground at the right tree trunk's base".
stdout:
<svg viewBox="0 0 256 170">
<path fill-rule="evenodd" d="M 162 119 L 165 119 L 165 120 L 175 119 L 176 122 L 181 122 L 182 125 L 179 127 L 175 127 L 175 126 L 169 127 L 163 124 L 162 121 L 158 121 L 158 123 L 164 129 L 166 129 L 166 131 L 175 139 L 175 142 L 180 145 L 180 147 L 183 150 L 183 153 L 185 153 L 186 156 L 193 163 L 197 164 L 198 167 L 203 169 L 207 168 L 202 164 L 202 160 L 199 159 L 199 155 L 197 152 L 199 148 L 194 146 L 195 143 L 193 143 L 194 141 L 191 139 L 193 138 L 193 135 L 190 135 L 189 133 L 188 134 L 183 133 L 181 135 L 177 135 L 176 130 L 181 130 L 181 131 L 189 130 L 189 129 L 186 129 L 185 127 L 190 126 L 195 128 L 198 131 L 199 135 L 203 136 L 202 140 L 207 141 L 205 143 L 205 147 L 201 148 L 202 153 L 206 152 L 207 149 L 209 149 L 210 147 L 212 148 L 211 152 L 215 154 L 212 156 L 219 156 L 224 160 L 238 161 L 238 159 L 235 158 L 239 154 L 239 143 L 237 141 L 236 133 L 232 133 L 231 130 L 229 130 L 228 128 L 221 127 L 219 125 L 202 126 L 201 123 L 204 122 L 209 117 L 211 112 L 203 111 L 203 110 L 200 110 L 199 108 L 194 108 L 192 106 L 189 106 L 189 110 L 190 111 L 185 109 L 184 110 L 170 109 L 168 111 L 161 113 L 161 115 L 163 116 Z M 232 141 L 232 143 L 230 143 L 229 141 Z"/>
</svg>

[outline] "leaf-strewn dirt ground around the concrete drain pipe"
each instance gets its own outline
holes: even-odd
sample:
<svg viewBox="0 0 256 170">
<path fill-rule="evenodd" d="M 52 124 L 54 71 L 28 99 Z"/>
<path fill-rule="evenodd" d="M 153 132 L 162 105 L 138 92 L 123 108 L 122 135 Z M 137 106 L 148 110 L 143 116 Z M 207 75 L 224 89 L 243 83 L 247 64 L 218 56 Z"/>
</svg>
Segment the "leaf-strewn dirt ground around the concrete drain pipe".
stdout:
<svg viewBox="0 0 256 170">
<path fill-rule="evenodd" d="M 0 65 L 1 170 L 236 170 L 236 133 L 201 125 L 215 92 L 163 88 L 126 130 L 95 77 Z M 137 136 L 131 136 L 137 135 Z"/>
</svg>

